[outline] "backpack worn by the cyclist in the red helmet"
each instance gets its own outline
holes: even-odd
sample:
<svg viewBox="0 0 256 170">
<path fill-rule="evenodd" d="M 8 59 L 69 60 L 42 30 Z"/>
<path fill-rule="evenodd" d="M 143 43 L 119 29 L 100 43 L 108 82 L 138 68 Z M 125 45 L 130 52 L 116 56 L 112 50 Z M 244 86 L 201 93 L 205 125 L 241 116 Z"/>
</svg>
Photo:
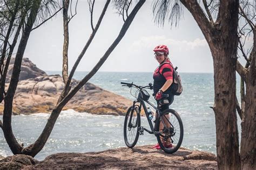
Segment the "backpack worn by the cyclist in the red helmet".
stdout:
<svg viewBox="0 0 256 170">
<path fill-rule="evenodd" d="M 176 96 L 179 96 L 182 91 L 183 91 L 183 87 L 182 87 L 182 84 L 181 84 L 181 78 L 178 74 L 178 72 L 176 71 L 178 69 L 178 67 L 175 67 L 172 65 L 172 63 L 169 63 L 169 62 L 164 62 L 163 64 L 161 64 L 158 69 L 160 71 L 160 67 L 164 64 L 170 64 L 172 66 L 172 70 L 173 70 L 173 83 L 171 85 L 171 90 L 172 90 L 172 93 Z M 159 72 L 160 74 L 160 72 Z"/>
</svg>

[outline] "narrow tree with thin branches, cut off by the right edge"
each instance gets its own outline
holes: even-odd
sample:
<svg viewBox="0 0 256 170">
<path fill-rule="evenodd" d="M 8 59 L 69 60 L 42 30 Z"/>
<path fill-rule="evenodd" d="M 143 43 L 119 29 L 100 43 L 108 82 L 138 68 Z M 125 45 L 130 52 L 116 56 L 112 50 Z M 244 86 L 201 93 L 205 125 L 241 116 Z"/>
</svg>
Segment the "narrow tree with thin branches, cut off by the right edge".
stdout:
<svg viewBox="0 0 256 170">
<path fill-rule="evenodd" d="M 256 27 L 255 27 L 255 4 L 248 1 L 241 2 L 239 6 L 239 21 L 241 26 L 238 29 L 239 45 L 238 49 L 241 58 L 246 60 L 243 67 L 237 62 L 237 72 L 241 77 L 240 96 L 241 107 L 237 102 L 237 111 L 241 122 L 241 169 L 255 169 L 256 158 Z M 253 22 L 254 21 L 254 22 Z M 253 34 L 250 36 L 250 34 Z M 245 49 L 246 40 L 253 37 L 253 44 L 249 49 Z M 239 56 L 240 57 L 240 56 Z M 245 87 L 246 84 L 246 87 Z"/>
</svg>

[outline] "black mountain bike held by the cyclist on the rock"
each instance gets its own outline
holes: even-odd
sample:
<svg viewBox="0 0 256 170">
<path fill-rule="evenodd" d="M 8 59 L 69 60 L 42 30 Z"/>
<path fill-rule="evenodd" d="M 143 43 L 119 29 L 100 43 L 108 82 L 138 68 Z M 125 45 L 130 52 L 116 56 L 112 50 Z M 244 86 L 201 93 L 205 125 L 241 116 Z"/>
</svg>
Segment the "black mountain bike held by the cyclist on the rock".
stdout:
<svg viewBox="0 0 256 170">
<path fill-rule="evenodd" d="M 133 148 L 139 139 L 139 135 L 143 135 L 144 131 L 154 134 L 157 137 L 158 144 L 161 149 L 166 153 L 176 152 L 183 141 L 183 123 L 179 114 L 173 109 L 166 109 L 163 112 L 160 111 L 160 106 L 167 104 L 169 94 L 163 94 L 163 97 L 158 102 L 158 106 L 154 106 L 150 103 L 150 94 L 145 89 L 153 89 L 152 84 L 148 86 L 138 86 L 133 83 L 124 83 L 122 86 L 128 86 L 129 88 L 136 88 L 136 94 L 133 97 L 137 99 L 133 101 L 133 105 L 127 110 L 124 120 L 124 140 L 125 144 L 129 148 Z M 131 91 L 130 91 L 131 93 Z M 132 93 L 131 93 L 132 94 Z M 152 121 L 149 117 L 149 112 L 146 109 L 145 103 L 149 104 L 156 110 L 156 120 L 153 127 Z M 169 101 L 168 101 L 169 103 Z M 149 122 L 151 130 L 147 130 L 145 127 L 140 126 L 140 113 L 143 110 L 146 118 Z M 166 142 L 172 144 L 172 148 L 165 147 Z"/>
</svg>

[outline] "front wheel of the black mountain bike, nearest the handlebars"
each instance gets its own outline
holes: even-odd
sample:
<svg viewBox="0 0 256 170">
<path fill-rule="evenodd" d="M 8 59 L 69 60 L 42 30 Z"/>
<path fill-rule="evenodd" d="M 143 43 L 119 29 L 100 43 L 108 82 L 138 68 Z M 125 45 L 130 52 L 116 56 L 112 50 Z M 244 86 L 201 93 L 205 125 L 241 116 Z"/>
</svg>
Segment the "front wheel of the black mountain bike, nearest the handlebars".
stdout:
<svg viewBox="0 0 256 170">
<path fill-rule="evenodd" d="M 140 114 L 138 106 L 129 107 L 124 119 L 124 141 L 133 148 L 139 139 Z"/>
</svg>

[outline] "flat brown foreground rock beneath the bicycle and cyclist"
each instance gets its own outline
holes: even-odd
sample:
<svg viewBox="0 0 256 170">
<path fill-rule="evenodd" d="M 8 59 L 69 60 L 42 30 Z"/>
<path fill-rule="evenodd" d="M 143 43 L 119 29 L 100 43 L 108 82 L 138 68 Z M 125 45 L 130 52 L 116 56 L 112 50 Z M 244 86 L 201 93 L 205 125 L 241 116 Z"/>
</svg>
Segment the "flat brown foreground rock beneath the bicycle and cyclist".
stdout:
<svg viewBox="0 0 256 170">
<path fill-rule="evenodd" d="M 152 149 L 151 145 L 137 146 L 133 149 L 123 147 L 102 152 L 57 153 L 46 157 L 43 161 L 32 160 L 31 163 L 27 160 L 28 156 L 23 157 L 26 157 L 21 167 L 24 169 L 218 169 L 216 157 L 212 153 L 180 148 L 176 153 L 166 154 Z M 10 161 L 9 157 L 6 157 L 0 161 L 0 169 L 3 162 L 6 165 L 7 159 L 9 165 L 17 162 Z M 19 161 L 18 165 L 20 163 Z"/>
</svg>

